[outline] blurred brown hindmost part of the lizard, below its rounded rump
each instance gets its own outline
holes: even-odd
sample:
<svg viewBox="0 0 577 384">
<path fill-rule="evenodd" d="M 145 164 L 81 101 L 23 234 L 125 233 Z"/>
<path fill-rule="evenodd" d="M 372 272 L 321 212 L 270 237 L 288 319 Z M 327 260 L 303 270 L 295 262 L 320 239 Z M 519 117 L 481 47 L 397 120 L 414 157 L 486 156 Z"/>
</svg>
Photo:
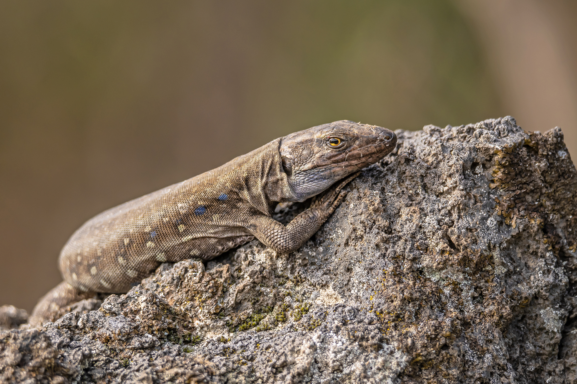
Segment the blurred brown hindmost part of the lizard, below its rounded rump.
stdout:
<svg viewBox="0 0 577 384">
<path fill-rule="evenodd" d="M 28 324 L 39 328 L 48 321 L 56 321 L 68 312 L 65 307 L 93 296 L 93 292 L 78 292 L 70 284 L 62 282 L 40 298 L 28 318 Z"/>
</svg>

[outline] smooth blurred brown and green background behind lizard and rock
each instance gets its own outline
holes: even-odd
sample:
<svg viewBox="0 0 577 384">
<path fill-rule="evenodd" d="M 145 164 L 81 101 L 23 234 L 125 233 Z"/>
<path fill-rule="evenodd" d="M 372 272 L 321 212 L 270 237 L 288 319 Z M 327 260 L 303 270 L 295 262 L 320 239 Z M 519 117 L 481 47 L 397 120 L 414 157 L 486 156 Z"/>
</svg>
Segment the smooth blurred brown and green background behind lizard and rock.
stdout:
<svg viewBox="0 0 577 384">
<path fill-rule="evenodd" d="M 0 305 L 85 220 L 290 132 L 514 116 L 577 156 L 574 0 L 0 2 Z"/>
</svg>

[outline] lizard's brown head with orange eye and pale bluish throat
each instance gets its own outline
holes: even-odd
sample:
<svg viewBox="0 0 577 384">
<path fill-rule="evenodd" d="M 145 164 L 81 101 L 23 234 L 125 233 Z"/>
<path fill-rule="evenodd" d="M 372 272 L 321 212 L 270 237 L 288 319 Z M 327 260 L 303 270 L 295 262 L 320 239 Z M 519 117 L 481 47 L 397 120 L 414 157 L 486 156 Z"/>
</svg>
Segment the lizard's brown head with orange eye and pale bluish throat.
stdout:
<svg viewBox="0 0 577 384">
<path fill-rule="evenodd" d="M 387 128 L 349 120 L 295 132 L 280 140 L 280 158 L 295 201 L 304 201 L 395 149 Z"/>
</svg>

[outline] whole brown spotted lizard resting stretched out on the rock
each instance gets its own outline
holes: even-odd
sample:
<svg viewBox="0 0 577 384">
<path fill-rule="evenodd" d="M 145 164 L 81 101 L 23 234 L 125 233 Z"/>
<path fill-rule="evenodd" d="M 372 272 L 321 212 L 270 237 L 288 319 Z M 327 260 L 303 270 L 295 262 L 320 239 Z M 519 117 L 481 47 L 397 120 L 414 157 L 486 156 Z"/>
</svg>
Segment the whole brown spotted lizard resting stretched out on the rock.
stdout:
<svg viewBox="0 0 577 384">
<path fill-rule="evenodd" d="M 64 280 L 40 299 L 29 322 L 42 324 L 96 292 L 128 292 L 161 263 L 210 260 L 255 237 L 277 252 L 293 252 L 335 211 L 359 170 L 395 146 L 396 135 L 386 128 L 334 121 L 104 211 L 63 247 Z M 276 204 L 310 197 L 310 207 L 286 226 L 272 218 Z"/>
</svg>

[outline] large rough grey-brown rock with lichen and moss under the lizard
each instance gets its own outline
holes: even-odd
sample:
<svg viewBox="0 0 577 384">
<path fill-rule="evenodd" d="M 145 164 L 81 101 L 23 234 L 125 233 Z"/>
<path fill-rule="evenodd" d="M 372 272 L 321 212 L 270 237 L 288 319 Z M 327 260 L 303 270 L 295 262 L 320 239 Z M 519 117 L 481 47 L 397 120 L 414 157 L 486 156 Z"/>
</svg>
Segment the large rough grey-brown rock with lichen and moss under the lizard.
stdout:
<svg viewBox="0 0 577 384">
<path fill-rule="evenodd" d="M 297 252 L 253 241 L 163 264 L 98 310 L 4 330 L 2 380 L 575 382 L 577 177 L 561 130 L 505 117 L 396 134 Z"/>
</svg>

